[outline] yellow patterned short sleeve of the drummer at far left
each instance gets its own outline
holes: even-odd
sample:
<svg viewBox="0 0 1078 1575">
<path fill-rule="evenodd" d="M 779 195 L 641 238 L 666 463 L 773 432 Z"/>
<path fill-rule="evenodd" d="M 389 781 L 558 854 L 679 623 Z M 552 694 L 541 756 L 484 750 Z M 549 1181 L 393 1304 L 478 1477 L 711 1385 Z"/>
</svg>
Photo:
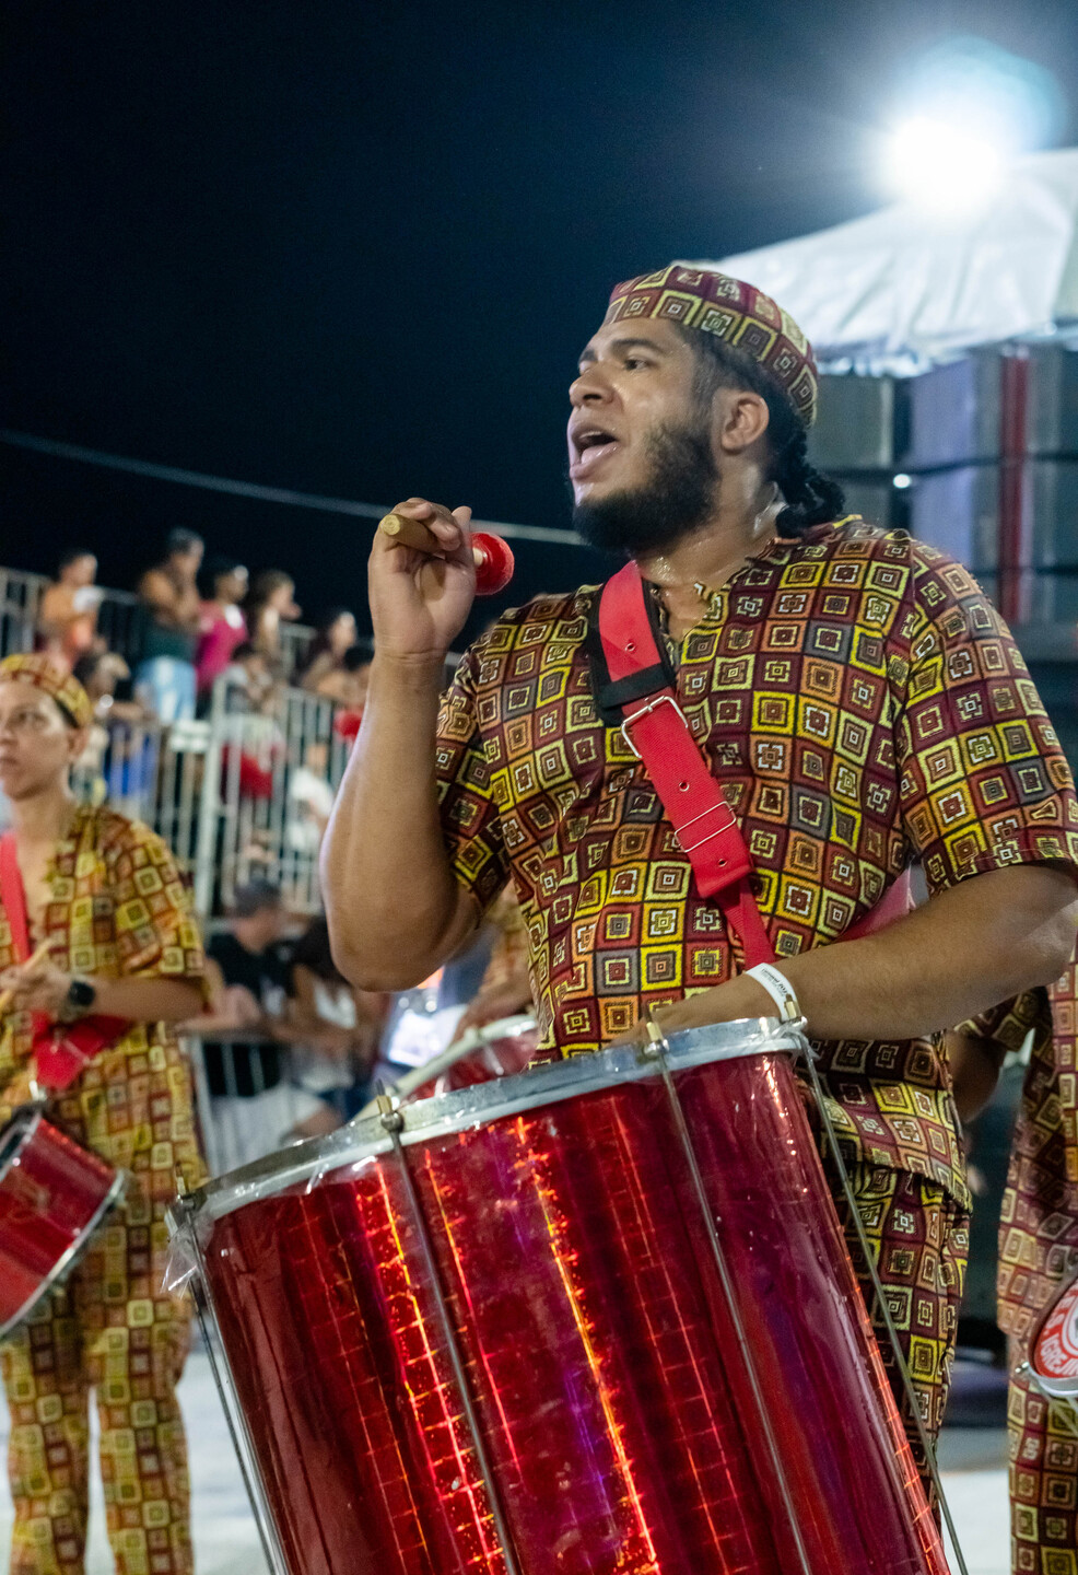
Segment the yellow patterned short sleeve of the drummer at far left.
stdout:
<svg viewBox="0 0 1078 1575">
<path fill-rule="evenodd" d="M 194 901 L 162 838 L 137 821 L 124 821 L 110 838 L 105 860 L 121 976 L 205 980 Z"/>
</svg>

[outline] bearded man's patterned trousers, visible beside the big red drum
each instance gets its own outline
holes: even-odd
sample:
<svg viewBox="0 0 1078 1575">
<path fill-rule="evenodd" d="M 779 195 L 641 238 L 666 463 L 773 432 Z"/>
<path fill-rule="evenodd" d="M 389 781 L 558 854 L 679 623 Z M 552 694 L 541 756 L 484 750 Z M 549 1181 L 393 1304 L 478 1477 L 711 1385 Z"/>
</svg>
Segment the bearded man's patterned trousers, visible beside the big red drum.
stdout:
<svg viewBox="0 0 1078 1575">
<path fill-rule="evenodd" d="M 951 1388 L 958 1309 L 969 1252 L 969 1216 L 949 1192 L 924 1177 L 884 1166 L 850 1164 L 850 1181 L 858 1213 L 877 1260 L 899 1343 L 906 1359 L 921 1416 L 935 1440 Z M 880 1340 L 883 1366 L 921 1473 L 928 1503 L 935 1493 L 902 1377 L 891 1348 L 891 1337 L 875 1306 L 875 1292 L 864 1263 L 861 1243 L 848 1219 L 848 1208 L 834 1167 L 825 1170 L 844 1221 L 847 1246 L 861 1284 L 872 1325 Z"/>
</svg>

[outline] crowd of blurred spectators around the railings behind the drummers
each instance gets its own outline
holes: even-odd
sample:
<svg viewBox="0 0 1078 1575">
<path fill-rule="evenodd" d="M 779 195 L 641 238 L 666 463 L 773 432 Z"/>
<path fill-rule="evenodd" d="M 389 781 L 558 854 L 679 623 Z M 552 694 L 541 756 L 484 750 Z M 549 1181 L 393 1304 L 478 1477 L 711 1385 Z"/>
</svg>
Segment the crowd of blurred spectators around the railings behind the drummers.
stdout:
<svg viewBox="0 0 1078 1575">
<path fill-rule="evenodd" d="M 376 1069 L 390 1082 L 400 1074 L 400 1065 L 379 1063 L 393 1044 L 404 1046 L 411 1065 L 408 1043 L 417 1033 L 433 1032 L 444 1047 L 447 1035 L 529 1010 L 511 901 L 461 958 L 398 997 L 353 989 L 334 965 L 326 920 L 290 914 L 282 901 L 275 857 L 316 863 L 334 799 L 324 732 L 293 737 L 282 698 L 286 688 L 294 704 L 302 696 L 330 702 L 337 736 L 354 737 L 370 655 L 353 611 L 329 608 L 305 643 L 288 638 L 301 617 L 291 575 L 252 575 L 234 558 L 206 558 L 194 531 L 168 534 L 138 580 L 137 603 L 127 606 L 134 616 L 110 616 L 96 576 L 94 553 L 66 553 L 38 602 L 38 649 L 74 671 L 93 701 L 80 769 L 105 794 L 124 794 L 153 776 L 161 729 L 175 737 L 212 715 L 222 780 L 238 778 L 249 805 L 280 811 L 280 847 L 266 847 L 264 862 L 263 850 L 247 847 L 250 876 L 227 912 L 214 907 L 211 1003 L 190 1025 L 201 1044 L 216 1169 L 349 1120 L 370 1098 Z"/>
</svg>

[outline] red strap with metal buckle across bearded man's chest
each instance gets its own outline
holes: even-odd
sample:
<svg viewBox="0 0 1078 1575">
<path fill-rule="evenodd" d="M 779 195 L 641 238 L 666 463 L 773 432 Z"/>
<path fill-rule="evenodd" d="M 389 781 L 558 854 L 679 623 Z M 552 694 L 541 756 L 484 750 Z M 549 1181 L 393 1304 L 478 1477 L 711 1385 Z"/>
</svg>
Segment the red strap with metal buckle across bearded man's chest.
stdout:
<svg viewBox="0 0 1078 1575">
<path fill-rule="evenodd" d="M 600 600 L 600 639 L 611 684 L 661 668 L 636 564 L 606 581 Z M 663 800 L 700 896 L 713 896 L 741 942 L 744 967 L 774 962 L 774 948 L 752 896 L 752 855 L 733 810 L 707 767 L 675 691 L 656 688 L 629 701 L 622 731 Z"/>
</svg>

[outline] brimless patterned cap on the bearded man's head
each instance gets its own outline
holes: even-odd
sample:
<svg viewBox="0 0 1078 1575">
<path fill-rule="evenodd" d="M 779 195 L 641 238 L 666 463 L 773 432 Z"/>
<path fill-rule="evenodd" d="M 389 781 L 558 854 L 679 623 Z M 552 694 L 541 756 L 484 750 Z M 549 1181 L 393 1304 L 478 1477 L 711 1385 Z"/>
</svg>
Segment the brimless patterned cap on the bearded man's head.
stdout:
<svg viewBox="0 0 1078 1575">
<path fill-rule="evenodd" d="M 806 427 L 815 421 L 820 376 L 812 345 L 790 313 L 755 285 L 710 268 L 670 263 L 614 287 L 607 323 L 648 317 L 669 317 L 683 328 L 725 339 L 771 373 Z"/>
</svg>

